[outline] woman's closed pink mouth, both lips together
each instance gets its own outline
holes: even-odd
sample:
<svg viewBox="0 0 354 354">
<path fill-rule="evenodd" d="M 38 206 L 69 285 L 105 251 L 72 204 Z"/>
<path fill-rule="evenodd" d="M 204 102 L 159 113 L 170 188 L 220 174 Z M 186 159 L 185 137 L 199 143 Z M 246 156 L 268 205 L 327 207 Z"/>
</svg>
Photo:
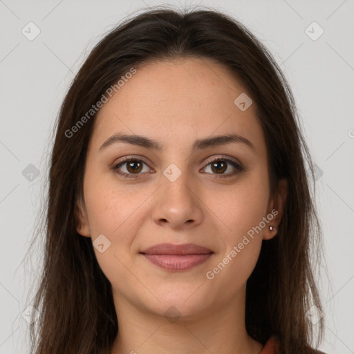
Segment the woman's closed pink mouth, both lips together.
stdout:
<svg viewBox="0 0 354 354">
<path fill-rule="evenodd" d="M 160 243 L 143 250 L 140 254 L 162 269 L 181 271 L 189 270 L 204 263 L 214 252 L 195 243 L 183 245 Z"/>
</svg>

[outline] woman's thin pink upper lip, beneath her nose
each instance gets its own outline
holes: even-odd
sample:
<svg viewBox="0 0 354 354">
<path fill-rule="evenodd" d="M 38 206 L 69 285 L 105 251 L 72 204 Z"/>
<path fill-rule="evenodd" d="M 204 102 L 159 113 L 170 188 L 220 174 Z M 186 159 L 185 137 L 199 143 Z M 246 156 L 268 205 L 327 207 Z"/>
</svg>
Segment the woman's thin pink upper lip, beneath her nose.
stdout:
<svg viewBox="0 0 354 354">
<path fill-rule="evenodd" d="M 184 243 L 183 245 L 174 245 L 173 243 L 159 243 L 146 250 L 141 251 L 144 254 L 208 254 L 211 250 L 195 243 Z"/>
</svg>

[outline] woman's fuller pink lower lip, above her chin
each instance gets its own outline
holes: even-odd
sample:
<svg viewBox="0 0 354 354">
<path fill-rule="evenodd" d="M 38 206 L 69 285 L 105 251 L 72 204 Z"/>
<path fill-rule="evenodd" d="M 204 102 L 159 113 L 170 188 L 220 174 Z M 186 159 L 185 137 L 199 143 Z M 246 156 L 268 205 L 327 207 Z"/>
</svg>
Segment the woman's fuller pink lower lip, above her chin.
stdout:
<svg viewBox="0 0 354 354">
<path fill-rule="evenodd" d="M 142 254 L 151 263 L 166 270 L 188 270 L 204 263 L 212 255 L 207 254 Z"/>
</svg>

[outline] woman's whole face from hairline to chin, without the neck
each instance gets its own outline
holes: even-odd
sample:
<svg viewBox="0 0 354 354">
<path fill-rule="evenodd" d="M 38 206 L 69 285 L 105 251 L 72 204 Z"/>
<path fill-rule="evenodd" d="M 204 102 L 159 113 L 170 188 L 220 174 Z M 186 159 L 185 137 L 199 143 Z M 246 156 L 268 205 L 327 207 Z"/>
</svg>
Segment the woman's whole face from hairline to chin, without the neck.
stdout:
<svg viewBox="0 0 354 354">
<path fill-rule="evenodd" d="M 116 305 L 197 317 L 240 298 L 276 233 L 279 194 L 256 106 L 234 103 L 248 93 L 226 68 L 174 59 L 136 70 L 97 113 L 77 232 L 91 237 Z M 203 251 L 142 253 L 161 243 Z"/>
</svg>

